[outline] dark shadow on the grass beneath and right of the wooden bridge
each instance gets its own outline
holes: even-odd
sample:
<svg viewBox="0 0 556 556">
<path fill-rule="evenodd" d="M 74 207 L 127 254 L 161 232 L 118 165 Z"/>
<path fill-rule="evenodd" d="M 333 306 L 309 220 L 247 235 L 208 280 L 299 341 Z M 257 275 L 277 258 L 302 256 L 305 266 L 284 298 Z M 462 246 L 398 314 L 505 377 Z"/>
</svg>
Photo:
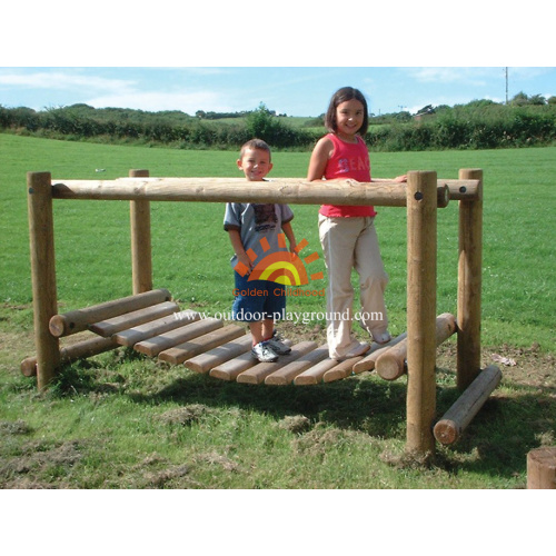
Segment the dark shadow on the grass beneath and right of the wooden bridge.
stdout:
<svg viewBox="0 0 556 556">
<path fill-rule="evenodd" d="M 135 356 L 128 358 L 129 363 L 135 363 Z M 118 371 L 108 371 L 105 378 L 110 381 L 102 381 L 99 373 L 106 370 L 89 361 L 69 366 L 60 374 L 53 393 L 61 396 L 70 391 L 119 395 L 152 406 L 237 407 L 264 413 L 277 421 L 302 415 L 312 424 L 324 423 L 376 438 L 405 440 L 406 436 L 406 377 L 390 383 L 376 374 L 364 373 L 315 386 L 256 386 L 227 383 L 187 369 L 168 377 L 169 369 L 157 368 L 155 371 L 160 378 L 155 385 L 133 389 L 123 387 L 126 377 Z M 141 373 L 150 376 L 149 370 Z M 128 369 L 128 373 L 133 370 Z M 453 375 L 443 368 L 438 368 L 437 374 Z M 437 385 L 438 419 L 460 395 L 454 381 Z M 549 390 L 539 393 L 518 387 L 510 396 L 495 390 L 457 443 L 437 444 L 434 465 L 448 473 L 465 470 L 493 477 L 515 478 L 526 473 L 527 453 L 538 447 L 543 439 L 545 444 L 550 439 L 554 443 L 553 398 L 554 393 Z"/>
</svg>

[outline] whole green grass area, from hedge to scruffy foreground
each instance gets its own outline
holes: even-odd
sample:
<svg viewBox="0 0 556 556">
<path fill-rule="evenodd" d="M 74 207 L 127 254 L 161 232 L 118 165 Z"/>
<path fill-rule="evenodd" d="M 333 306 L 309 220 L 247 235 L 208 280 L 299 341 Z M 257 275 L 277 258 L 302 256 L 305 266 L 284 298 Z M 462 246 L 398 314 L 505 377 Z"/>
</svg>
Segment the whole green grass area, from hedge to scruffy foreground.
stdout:
<svg viewBox="0 0 556 556">
<path fill-rule="evenodd" d="M 33 354 L 26 172 L 54 179 L 239 177 L 236 152 L 61 142 L 0 135 L 0 485 L 57 488 L 523 488 L 525 457 L 555 444 L 556 148 L 371 153 L 373 175 L 459 168 L 485 172 L 483 363 L 513 357 L 504 379 L 451 448 L 428 468 L 404 465 L 405 378 L 364 374 L 301 388 L 246 388 L 113 351 L 64 369 L 48 393 L 21 376 Z M 304 177 L 308 152 L 276 152 L 269 177 Z M 96 169 L 103 169 L 101 173 Z M 317 207 L 294 206 L 297 239 L 321 255 Z M 155 287 L 186 307 L 228 311 L 231 249 L 224 206 L 152 203 Z M 60 310 L 130 294 L 127 202 L 56 201 Z M 391 331 L 405 329 L 406 216 L 379 208 L 390 275 Z M 437 314 L 456 310 L 457 206 L 439 211 Z M 318 267 L 318 268 L 317 268 Z M 324 269 L 322 260 L 311 270 Z M 324 287 L 324 284 L 322 284 Z M 288 310 L 322 311 L 318 298 Z M 288 324 L 322 337 L 324 322 Z M 457 398 L 454 342 L 438 360 L 438 411 Z"/>
</svg>

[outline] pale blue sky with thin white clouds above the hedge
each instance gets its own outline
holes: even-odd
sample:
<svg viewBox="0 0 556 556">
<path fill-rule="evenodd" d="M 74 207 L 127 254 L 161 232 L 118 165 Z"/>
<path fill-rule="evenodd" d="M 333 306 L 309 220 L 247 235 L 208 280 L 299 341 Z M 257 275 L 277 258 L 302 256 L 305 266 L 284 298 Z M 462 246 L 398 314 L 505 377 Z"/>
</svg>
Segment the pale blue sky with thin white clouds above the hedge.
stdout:
<svg viewBox="0 0 556 556">
<path fill-rule="evenodd" d="M 556 96 L 556 68 L 507 67 L 508 98 Z M 360 89 L 371 113 L 506 100 L 506 67 L 3 67 L 0 105 L 86 103 L 146 111 L 239 112 L 262 102 L 288 116 L 324 113 L 334 91 Z"/>
</svg>

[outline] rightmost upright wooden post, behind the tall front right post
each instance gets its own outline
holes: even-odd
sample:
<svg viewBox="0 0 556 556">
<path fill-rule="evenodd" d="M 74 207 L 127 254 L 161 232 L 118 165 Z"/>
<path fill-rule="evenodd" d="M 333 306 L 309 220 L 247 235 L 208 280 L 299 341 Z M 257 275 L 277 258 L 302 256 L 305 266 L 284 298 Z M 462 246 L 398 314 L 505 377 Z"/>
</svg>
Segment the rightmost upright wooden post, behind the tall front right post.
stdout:
<svg viewBox="0 0 556 556">
<path fill-rule="evenodd" d="M 465 390 L 480 371 L 483 265 L 483 170 L 461 169 L 459 179 L 478 179 L 478 198 L 459 201 L 457 280 L 457 387 Z"/>
</svg>

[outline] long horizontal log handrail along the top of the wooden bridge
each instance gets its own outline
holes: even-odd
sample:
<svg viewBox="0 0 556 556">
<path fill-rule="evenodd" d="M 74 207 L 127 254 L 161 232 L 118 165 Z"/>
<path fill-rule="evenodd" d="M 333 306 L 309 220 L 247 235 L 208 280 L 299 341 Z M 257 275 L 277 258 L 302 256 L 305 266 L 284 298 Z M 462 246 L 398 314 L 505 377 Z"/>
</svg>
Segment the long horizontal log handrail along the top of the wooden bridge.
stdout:
<svg viewBox="0 0 556 556">
<path fill-rule="evenodd" d="M 450 198 L 473 199 L 476 180 L 438 180 L 438 206 Z M 240 178 L 119 178 L 52 180 L 54 199 L 202 202 L 289 202 L 298 205 L 376 205 L 405 207 L 406 183 L 377 180 L 304 181 L 278 178 L 257 183 Z"/>
</svg>

